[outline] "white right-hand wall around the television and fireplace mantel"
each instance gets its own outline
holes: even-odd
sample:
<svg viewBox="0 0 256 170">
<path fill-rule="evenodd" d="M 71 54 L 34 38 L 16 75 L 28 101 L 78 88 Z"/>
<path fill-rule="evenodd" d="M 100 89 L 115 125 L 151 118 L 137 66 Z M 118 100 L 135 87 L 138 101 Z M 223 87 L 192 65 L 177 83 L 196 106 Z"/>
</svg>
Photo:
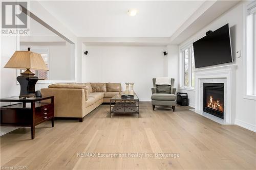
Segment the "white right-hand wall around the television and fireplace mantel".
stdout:
<svg viewBox="0 0 256 170">
<path fill-rule="evenodd" d="M 239 3 L 222 16 L 212 21 L 208 26 L 198 31 L 192 37 L 187 38 L 188 40 L 198 40 L 205 36 L 205 32 L 209 30 L 216 30 L 226 23 L 229 23 L 230 36 L 232 43 L 232 54 L 234 62 L 236 64 L 236 124 L 243 126 L 247 129 L 256 129 L 256 101 L 244 99 L 244 88 L 245 82 L 243 81 L 243 57 L 236 58 L 235 52 L 241 50 L 243 52 L 243 5 L 245 3 Z M 180 44 L 182 46 L 186 42 Z M 225 64 L 224 64 L 225 65 Z M 195 91 L 180 90 L 181 92 L 188 92 L 190 99 L 190 105 L 195 106 Z"/>
</svg>

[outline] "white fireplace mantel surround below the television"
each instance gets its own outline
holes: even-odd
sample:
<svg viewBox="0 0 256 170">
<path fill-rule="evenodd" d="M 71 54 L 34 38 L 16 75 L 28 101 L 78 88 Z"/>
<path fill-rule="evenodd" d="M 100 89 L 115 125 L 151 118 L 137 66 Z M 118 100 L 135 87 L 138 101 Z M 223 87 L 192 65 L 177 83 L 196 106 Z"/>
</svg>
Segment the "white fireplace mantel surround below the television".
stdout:
<svg viewBox="0 0 256 170">
<path fill-rule="evenodd" d="M 203 69 L 196 69 L 196 81 L 195 81 L 195 110 L 197 113 L 203 112 L 203 88 L 202 82 L 212 82 L 224 83 L 224 123 L 234 124 L 234 119 L 236 116 L 235 107 L 235 96 L 234 90 L 236 89 L 235 85 L 235 72 L 237 65 L 224 65 Z M 201 99 L 201 100 L 200 100 Z"/>
</svg>

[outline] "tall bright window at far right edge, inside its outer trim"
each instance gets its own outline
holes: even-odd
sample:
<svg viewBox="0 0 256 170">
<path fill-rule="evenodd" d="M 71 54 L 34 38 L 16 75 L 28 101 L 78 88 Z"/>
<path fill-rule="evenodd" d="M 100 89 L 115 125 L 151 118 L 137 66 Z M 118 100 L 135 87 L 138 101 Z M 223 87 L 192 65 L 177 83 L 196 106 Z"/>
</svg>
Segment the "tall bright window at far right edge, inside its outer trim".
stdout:
<svg viewBox="0 0 256 170">
<path fill-rule="evenodd" d="M 246 95 L 256 99 L 256 2 L 246 7 Z"/>
</svg>

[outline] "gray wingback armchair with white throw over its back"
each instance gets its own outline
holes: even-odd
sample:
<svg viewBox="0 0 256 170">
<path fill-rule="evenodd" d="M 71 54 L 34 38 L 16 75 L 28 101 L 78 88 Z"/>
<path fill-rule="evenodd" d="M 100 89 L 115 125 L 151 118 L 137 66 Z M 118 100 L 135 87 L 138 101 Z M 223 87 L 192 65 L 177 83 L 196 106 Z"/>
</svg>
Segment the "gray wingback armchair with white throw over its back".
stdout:
<svg viewBox="0 0 256 170">
<path fill-rule="evenodd" d="M 156 105 L 159 106 L 172 106 L 173 111 L 175 111 L 176 106 L 176 88 L 174 87 L 175 79 L 170 79 L 171 85 L 156 85 L 156 78 L 153 78 L 153 88 L 152 90 L 152 107 L 155 110 Z"/>
</svg>

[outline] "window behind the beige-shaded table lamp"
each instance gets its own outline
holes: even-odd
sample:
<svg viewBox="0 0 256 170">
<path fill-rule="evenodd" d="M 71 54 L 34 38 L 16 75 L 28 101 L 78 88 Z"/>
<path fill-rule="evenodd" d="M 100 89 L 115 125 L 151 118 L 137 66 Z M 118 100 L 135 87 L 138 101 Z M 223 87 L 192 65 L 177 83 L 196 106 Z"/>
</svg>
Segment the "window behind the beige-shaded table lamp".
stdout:
<svg viewBox="0 0 256 170">
<path fill-rule="evenodd" d="M 27 48 L 22 49 L 22 51 L 27 51 Z M 42 59 L 45 61 L 46 66 L 49 68 L 49 51 L 48 51 L 48 49 L 31 49 L 30 51 L 40 54 Z M 25 71 L 25 70 L 20 70 L 20 73 L 22 73 L 23 71 Z M 31 69 L 31 72 L 33 72 L 35 74 L 35 76 L 38 77 L 38 79 L 49 80 L 49 71 Z"/>
</svg>

